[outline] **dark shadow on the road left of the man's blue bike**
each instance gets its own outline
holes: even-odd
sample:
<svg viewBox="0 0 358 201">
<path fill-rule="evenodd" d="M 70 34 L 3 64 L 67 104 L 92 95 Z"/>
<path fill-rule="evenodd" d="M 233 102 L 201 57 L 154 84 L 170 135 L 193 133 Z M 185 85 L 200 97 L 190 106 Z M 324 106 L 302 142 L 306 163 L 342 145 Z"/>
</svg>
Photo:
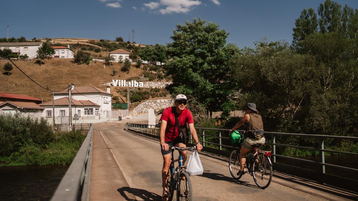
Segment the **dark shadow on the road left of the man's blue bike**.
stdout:
<svg viewBox="0 0 358 201">
<path fill-rule="evenodd" d="M 136 201 L 136 199 L 129 198 L 127 195 L 132 194 L 134 196 L 140 197 L 142 200 L 160 200 L 161 196 L 143 189 L 139 188 L 130 188 L 130 187 L 122 187 L 118 188 L 117 191 L 121 193 L 121 195 L 130 201 Z"/>
</svg>

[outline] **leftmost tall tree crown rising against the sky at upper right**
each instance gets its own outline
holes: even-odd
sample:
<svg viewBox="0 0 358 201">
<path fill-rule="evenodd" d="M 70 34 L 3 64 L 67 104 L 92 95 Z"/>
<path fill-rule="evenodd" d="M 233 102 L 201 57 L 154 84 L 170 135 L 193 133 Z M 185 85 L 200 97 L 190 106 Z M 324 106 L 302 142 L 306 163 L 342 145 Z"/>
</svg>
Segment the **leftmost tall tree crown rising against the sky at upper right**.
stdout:
<svg viewBox="0 0 358 201">
<path fill-rule="evenodd" d="M 317 14 L 312 8 L 303 9 L 301 15 L 295 21 L 296 27 L 293 28 L 292 45 L 296 46 L 298 41 L 305 39 L 306 36 L 317 32 Z"/>
</svg>

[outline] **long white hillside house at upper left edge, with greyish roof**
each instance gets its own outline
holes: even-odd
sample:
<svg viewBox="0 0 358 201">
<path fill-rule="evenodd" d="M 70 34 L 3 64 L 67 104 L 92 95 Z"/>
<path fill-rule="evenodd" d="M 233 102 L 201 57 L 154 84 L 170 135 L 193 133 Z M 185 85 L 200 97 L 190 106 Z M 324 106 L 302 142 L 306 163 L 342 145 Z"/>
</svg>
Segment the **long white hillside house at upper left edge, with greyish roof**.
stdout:
<svg viewBox="0 0 358 201">
<path fill-rule="evenodd" d="M 28 55 L 30 59 L 36 58 L 36 51 L 43 42 L 0 43 L 0 49 L 11 49 L 14 54 Z"/>
</svg>

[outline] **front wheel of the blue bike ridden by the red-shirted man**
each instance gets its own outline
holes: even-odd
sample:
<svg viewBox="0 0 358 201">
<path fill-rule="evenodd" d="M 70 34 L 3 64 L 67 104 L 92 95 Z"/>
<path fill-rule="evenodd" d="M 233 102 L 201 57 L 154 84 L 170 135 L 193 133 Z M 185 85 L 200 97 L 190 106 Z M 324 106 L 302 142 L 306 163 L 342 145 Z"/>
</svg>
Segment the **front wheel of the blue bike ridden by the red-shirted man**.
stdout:
<svg viewBox="0 0 358 201">
<path fill-rule="evenodd" d="M 190 176 L 187 172 L 180 172 L 178 178 L 178 188 L 176 189 L 176 200 L 192 201 L 193 200 L 193 185 Z"/>
</svg>

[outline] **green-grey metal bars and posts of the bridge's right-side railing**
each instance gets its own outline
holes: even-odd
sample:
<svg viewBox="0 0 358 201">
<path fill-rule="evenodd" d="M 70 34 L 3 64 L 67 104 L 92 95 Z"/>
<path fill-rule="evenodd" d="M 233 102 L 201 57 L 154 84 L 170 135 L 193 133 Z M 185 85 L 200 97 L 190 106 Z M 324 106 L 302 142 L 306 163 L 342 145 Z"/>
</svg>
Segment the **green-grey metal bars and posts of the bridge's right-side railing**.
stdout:
<svg viewBox="0 0 358 201">
<path fill-rule="evenodd" d="M 152 138 L 159 138 L 159 128 L 160 125 L 147 125 L 147 124 L 134 124 L 127 123 L 127 130 L 132 131 L 138 134 L 142 134 L 145 136 L 149 136 Z M 199 141 L 202 142 L 204 148 L 203 151 L 208 151 L 221 156 L 229 156 L 229 151 L 231 148 L 231 144 L 229 143 L 229 129 L 212 129 L 212 128 L 195 128 L 197 130 L 197 134 L 199 137 Z M 243 132 L 243 131 L 242 131 Z M 271 140 L 267 139 L 267 137 L 271 136 Z M 295 136 L 295 137 L 310 137 L 315 138 L 315 141 L 318 139 L 318 148 L 312 147 L 303 147 L 303 146 L 294 146 L 290 144 L 284 143 L 276 143 L 276 139 L 278 136 Z M 313 134 L 294 134 L 294 133 L 277 133 L 277 132 L 265 132 L 266 143 L 264 148 L 271 147 L 271 155 L 273 156 L 272 162 L 276 163 L 276 157 L 286 158 L 290 160 L 299 161 L 301 163 L 309 163 L 309 164 L 318 164 L 321 165 L 321 173 L 325 174 L 325 167 L 334 167 L 347 171 L 351 171 L 354 174 L 357 174 L 357 167 L 347 167 L 343 166 L 345 163 L 342 161 L 340 164 L 342 165 L 333 165 L 329 163 L 325 163 L 325 152 L 329 153 L 337 153 L 341 155 L 354 156 L 358 158 L 358 153 L 350 153 L 336 150 L 324 149 L 324 141 L 325 139 L 347 139 L 351 141 L 358 141 L 358 137 L 344 137 L 344 136 L 326 136 L 326 135 L 313 135 Z M 215 139 L 216 140 L 213 140 Z M 215 141 L 215 142 L 214 142 Z M 270 142 L 271 141 L 271 142 Z M 192 142 L 192 136 L 190 135 L 190 143 Z M 269 145 L 269 146 L 267 146 Z M 298 157 L 289 157 L 283 156 L 276 153 L 276 146 L 278 147 L 292 147 L 298 149 L 305 149 L 310 151 L 318 151 L 319 152 L 319 161 L 305 160 Z M 286 167 L 285 167 L 286 168 Z M 332 179 L 332 178 L 331 178 Z"/>
</svg>

